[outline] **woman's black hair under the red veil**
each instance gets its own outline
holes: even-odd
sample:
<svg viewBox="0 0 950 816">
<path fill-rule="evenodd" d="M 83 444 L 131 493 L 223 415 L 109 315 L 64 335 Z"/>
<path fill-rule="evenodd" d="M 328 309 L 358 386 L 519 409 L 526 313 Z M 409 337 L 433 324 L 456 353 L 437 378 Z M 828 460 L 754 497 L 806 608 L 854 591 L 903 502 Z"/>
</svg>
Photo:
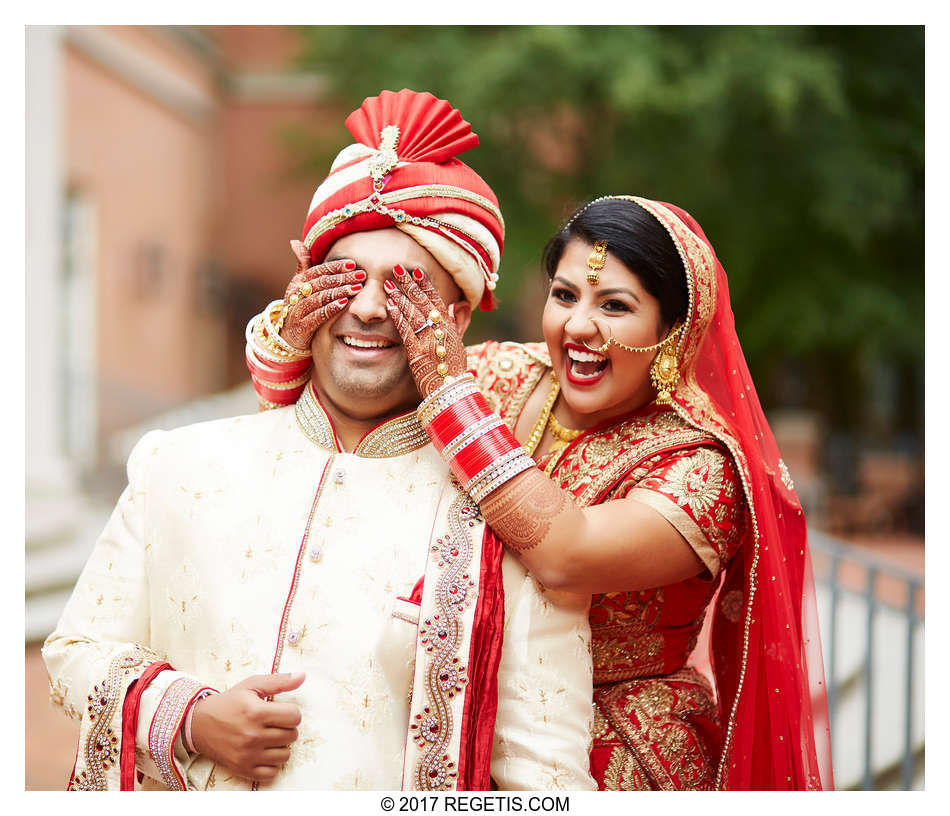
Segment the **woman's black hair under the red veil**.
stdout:
<svg viewBox="0 0 950 816">
<path fill-rule="evenodd" d="M 623 263 L 660 302 L 660 318 L 671 327 L 686 319 L 689 290 L 683 261 L 673 239 L 659 221 L 639 204 L 622 198 L 595 201 L 548 241 L 542 265 L 552 279 L 572 238 L 588 244 L 606 241 L 607 252 Z"/>
</svg>

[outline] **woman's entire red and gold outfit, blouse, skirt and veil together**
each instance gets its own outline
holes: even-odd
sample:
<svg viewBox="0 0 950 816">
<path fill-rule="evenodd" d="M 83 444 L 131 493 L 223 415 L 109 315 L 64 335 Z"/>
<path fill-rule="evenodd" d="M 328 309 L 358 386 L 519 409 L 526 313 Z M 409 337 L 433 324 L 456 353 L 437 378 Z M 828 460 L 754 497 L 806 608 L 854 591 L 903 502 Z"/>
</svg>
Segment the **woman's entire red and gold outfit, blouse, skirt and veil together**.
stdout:
<svg viewBox="0 0 950 816">
<path fill-rule="evenodd" d="M 672 406 L 652 403 L 578 436 L 551 477 L 585 506 L 645 502 L 706 569 L 593 596 L 591 772 L 607 790 L 829 789 L 805 520 L 739 346 L 725 272 L 688 213 L 617 198 L 657 218 L 683 262 L 681 379 Z M 550 368 L 543 344 L 488 342 L 469 362 L 512 429 Z"/>
</svg>

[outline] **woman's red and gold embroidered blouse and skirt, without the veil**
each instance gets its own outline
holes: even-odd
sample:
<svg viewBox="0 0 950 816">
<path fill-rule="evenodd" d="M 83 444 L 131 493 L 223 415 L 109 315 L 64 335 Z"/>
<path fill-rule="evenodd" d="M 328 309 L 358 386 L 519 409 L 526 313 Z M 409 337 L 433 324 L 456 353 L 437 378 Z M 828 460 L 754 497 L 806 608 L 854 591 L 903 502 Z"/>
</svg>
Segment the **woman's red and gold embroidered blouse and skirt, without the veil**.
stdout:
<svg viewBox="0 0 950 816">
<path fill-rule="evenodd" d="M 513 428 L 549 371 L 544 345 L 489 342 L 470 351 L 483 392 Z M 552 478 L 584 505 L 628 496 L 645 501 L 707 567 L 670 586 L 592 598 L 594 779 L 601 790 L 713 788 L 722 729 L 710 682 L 687 659 L 721 564 L 745 526 L 742 487 L 728 455 L 709 434 L 651 405 L 584 434 Z"/>
</svg>

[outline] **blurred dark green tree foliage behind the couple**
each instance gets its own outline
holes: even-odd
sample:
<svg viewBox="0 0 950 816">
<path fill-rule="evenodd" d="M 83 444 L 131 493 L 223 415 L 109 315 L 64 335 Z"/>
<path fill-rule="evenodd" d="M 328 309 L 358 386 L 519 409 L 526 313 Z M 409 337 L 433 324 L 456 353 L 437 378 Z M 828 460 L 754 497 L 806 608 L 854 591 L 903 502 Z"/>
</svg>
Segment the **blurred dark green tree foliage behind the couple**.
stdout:
<svg viewBox="0 0 950 816">
<path fill-rule="evenodd" d="M 832 407 L 845 389 L 860 401 L 876 361 L 922 369 L 922 27 L 315 27 L 305 38 L 303 64 L 342 107 L 427 90 L 479 134 L 463 158 L 498 194 L 507 240 L 502 308 L 473 339 L 538 337 L 536 308 L 518 304 L 538 302 L 545 241 L 578 204 L 634 193 L 703 225 L 766 392 L 781 390 L 777 363 L 810 385 L 825 378 L 819 401 Z"/>
</svg>

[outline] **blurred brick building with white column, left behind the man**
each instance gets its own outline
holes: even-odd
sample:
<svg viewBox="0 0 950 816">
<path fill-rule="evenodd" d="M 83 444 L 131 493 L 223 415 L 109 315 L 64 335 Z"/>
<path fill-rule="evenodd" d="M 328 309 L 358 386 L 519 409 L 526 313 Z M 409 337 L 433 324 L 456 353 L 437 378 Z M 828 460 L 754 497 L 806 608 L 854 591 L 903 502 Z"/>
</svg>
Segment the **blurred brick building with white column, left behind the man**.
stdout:
<svg viewBox="0 0 950 816">
<path fill-rule="evenodd" d="M 276 26 L 27 28 L 28 638 L 121 489 L 116 434 L 246 383 L 244 324 L 320 180 L 292 145 L 344 137 L 299 48 Z"/>
</svg>

